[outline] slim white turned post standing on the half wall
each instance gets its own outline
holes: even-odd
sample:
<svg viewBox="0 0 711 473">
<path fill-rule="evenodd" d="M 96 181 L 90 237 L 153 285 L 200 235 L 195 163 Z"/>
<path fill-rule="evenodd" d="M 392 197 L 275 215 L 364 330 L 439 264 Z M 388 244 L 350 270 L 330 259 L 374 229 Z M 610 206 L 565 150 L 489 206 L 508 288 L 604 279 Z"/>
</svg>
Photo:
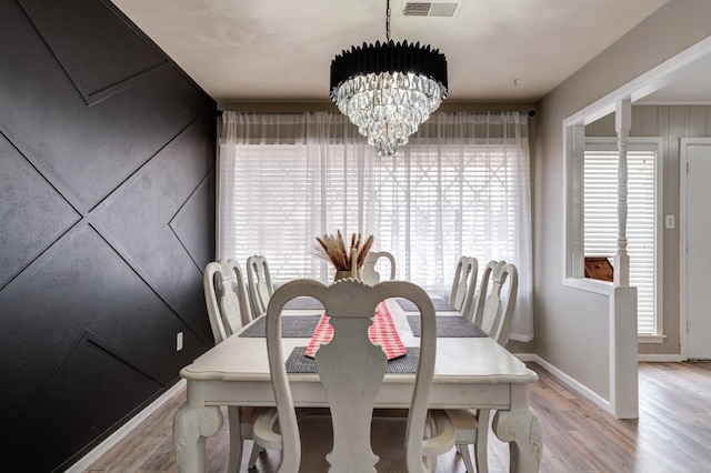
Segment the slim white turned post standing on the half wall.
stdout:
<svg viewBox="0 0 711 473">
<path fill-rule="evenodd" d="M 627 149 L 632 127 L 632 102 L 630 99 L 617 102 L 614 129 L 618 133 L 618 252 L 614 255 L 614 285 L 630 285 L 630 255 L 627 252 Z"/>
</svg>

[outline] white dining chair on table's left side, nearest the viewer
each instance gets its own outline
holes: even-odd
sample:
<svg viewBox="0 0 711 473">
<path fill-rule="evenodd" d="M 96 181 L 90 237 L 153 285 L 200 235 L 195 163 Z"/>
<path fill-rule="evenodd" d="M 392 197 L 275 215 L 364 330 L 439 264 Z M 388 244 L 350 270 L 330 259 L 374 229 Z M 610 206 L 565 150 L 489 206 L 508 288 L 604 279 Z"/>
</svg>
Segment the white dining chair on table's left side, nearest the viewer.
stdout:
<svg viewBox="0 0 711 473">
<path fill-rule="evenodd" d="M 221 260 L 210 262 L 206 266 L 202 285 L 204 300 L 208 306 L 208 318 L 212 329 L 214 344 L 222 343 L 231 336 L 243 324 L 251 321 L 250 310 L 247 303 L 247 292 L 244 290 L 244 278 L 240 264 L 232 260 Z M 238 441 L 237 430 L 242 440 L 252 440 L 252 431 L 257 415 L 267 407 L 241 407 L 237 405 L 228 406 L 228 419 L 230 429 L 230 457 L 228 471 L 239 470 L 237 464 L 238 454 L 241 456 L 243 444 Z M 257 443 L 252 446 L 249 464 L 253 466 L 257 456 L 264 450 Z"/>
</svg>

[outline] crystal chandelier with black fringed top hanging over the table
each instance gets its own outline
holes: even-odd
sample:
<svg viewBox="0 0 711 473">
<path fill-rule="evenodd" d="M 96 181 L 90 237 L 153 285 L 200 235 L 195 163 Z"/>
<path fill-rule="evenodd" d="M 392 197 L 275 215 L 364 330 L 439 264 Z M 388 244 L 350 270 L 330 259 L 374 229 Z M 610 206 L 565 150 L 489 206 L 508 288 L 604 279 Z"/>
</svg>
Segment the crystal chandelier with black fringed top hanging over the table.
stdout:
<svg viewBox="0 0 711 473">
<path fill-rule="evenodd" d="M 385 33 L 385 42 L 353 46 L 331 61 L 330 95 L 378 154 L 391 157 L 447 97 L 447 58 L 390 39 L 390 0 Z"/>
</svg>

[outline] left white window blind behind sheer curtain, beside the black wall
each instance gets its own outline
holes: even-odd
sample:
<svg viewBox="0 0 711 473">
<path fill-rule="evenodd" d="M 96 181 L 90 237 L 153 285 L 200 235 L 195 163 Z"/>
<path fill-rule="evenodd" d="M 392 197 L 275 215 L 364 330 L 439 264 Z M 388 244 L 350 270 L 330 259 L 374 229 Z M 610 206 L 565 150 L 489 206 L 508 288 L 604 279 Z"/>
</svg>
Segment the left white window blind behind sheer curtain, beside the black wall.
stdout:
<svg viewBox="0 0 711 473">
<path fill-rule="evenodd" d="M 322 162 L 307 151 L 302 143 L 239 145 L 226 183 L 232 223 L 221 230 L 224 252 L 241 262 L 264 254 L 277 284 L 297 278 L 328 281 L 330 266 L 313 256 L 316 236 L 358 232 L 365 213 L 358 161 L 336 150 Z"/>
</svg>

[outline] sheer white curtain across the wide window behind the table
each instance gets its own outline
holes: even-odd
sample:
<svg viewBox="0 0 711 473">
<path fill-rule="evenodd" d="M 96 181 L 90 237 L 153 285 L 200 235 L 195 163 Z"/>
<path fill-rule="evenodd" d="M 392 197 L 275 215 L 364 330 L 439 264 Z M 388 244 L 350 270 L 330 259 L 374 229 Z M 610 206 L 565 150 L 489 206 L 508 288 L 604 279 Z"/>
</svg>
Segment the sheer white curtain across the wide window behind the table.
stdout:
<svg viewBox="0 0 711 473">
<path fill-rule="evenodd" d="M 218 258 L 264 254 L 272 281 L 331 269 L 314 238 L 374 235 L 397 276 L 447 295 L 462 254 L 519 270 L 511 340 L 533 338 L 528 119 L 438 113 L 380 158 L 341 114 L 224 112 L 218 158 Z"/>
</svg>

